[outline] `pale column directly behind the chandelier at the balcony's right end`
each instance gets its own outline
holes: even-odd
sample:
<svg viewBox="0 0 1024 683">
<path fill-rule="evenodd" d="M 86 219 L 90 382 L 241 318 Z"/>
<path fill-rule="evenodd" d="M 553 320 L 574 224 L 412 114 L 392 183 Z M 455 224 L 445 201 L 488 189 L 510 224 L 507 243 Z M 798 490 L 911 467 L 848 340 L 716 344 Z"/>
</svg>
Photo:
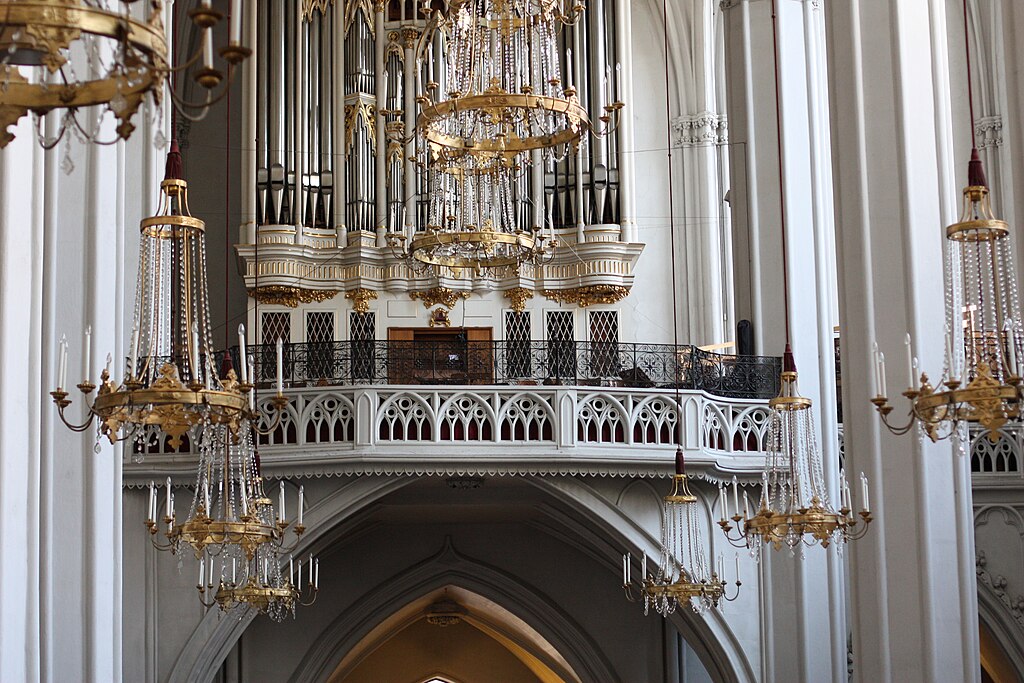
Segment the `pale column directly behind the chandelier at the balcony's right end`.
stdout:
<svg viewBox="0 0 1024 683">
<path fill-rule="evenodd" d="M 836 284 L 822 12 L 814 0 L 726 0 L 722 7 L 736 317 L 753 321 L 756 353 L 780 355 L 788 336 L 801 393 L 814 401 L 825 485 L 837 500 Z M 787 551 L 764 551 L 764 680 L 840 683 L 846 680 L 847 652 L 842 565 L 835 548 L 809 548 L 804 555 L 800 560 Z"/>
</svg>

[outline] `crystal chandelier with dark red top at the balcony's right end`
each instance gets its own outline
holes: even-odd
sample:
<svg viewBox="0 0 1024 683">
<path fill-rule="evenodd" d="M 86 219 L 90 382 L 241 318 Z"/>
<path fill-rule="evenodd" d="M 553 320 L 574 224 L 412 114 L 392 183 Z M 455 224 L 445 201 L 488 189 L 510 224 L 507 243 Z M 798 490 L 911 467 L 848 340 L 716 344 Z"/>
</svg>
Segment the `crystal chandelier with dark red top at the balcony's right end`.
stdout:
<svg viewBox="0 0 1024 683">
<path fill-rule="evenodd" d="M 776 550 L 783 545 L 793 550 L 818 543 L 827 548 L 831 543 L 863 537 L 871 522 L 867 478 L 860 475 L 863 507 L 857 515 L 863 525 L 858 526 L 845 472 L 840 475 L 840 504 L 835 505 L 828 498 L 811 399 L 801 396 L 797 389 L 797 369 L 788 346 L 781 390 L 769 405 L 772 412 L 768 424 L 768 455 L 761 474 L 761 500 L 757 510 L 752 508 L 745 493 L 740 508 L 735 477 L 732 479 L 731 510 L 729 492 L 719 486 L 721 517 L 718 523 L 726 538 L 737 547 L 745 546 L 756 551 L 762 542 L 771 544 Z"/>
</svg>

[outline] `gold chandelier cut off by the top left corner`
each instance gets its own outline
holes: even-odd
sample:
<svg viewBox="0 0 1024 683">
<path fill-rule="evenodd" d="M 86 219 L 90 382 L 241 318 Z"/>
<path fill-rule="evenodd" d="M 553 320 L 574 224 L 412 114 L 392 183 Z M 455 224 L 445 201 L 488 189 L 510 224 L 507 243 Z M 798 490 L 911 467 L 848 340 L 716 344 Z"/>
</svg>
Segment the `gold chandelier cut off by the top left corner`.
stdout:
<svg viewBox="0 0 1024 683">
<path fill-rule="evenodd" d="M 229 41 L 218 50 L 227 63 L 228 83 L 251 53 L 241 44 L 241 0 L 231 1 L 230 11 Z M 29 112 L 36 116 L 37 137 L 46 148 L 69 131 L 100 143 L 127 139 L 146 96 L 159 106 L 168 77 L 197 65 L 193 80 L 207 90 L 207 97 L 189 102 L 171 88 L 172 103 L 179 109 L 214 103 L 227 92 L 212 92 L 224 80 L 213 56 L 213 29 L 223 15 L 202 0 L 189 18 L 202 33 L 200 46 L 172 67 L 162 0 L 0 0 L 0 147 L 14 139 L 11 129 Z M 56 135 L 48 136 L 42 115 L 54 111 L 62 113 L 60 123 Z M 99 140 L 94 119 L 108 112 L 118 121 L 117 137 Z M 70 171 L 70 159 L 65 164 Z"/>
</svg>

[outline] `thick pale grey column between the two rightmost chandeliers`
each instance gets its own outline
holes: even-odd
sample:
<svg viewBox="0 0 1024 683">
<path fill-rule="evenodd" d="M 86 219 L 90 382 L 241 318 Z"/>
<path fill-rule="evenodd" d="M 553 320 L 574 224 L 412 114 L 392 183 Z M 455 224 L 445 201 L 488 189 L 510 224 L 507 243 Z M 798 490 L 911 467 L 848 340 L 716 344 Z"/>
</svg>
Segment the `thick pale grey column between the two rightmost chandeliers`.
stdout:
<svg viewBox="0 0 1024 683">
<path fill-rule="evenodd" d="M 966 168 L 952 165 L 942 0 L 829 5 L 846 458 L 878 516 L 850 554 L 855 681 L 977 681 L 969 459 L 892 436 L 868 403 L 871 343 L 943 364 L 942 248 Z M 955 92 L 954 97 L 966 93 Z M 898 370 L 890 392 L 906 382 Z M 896 396 L 896 415 L 905 407 Z"/>
</svg>

